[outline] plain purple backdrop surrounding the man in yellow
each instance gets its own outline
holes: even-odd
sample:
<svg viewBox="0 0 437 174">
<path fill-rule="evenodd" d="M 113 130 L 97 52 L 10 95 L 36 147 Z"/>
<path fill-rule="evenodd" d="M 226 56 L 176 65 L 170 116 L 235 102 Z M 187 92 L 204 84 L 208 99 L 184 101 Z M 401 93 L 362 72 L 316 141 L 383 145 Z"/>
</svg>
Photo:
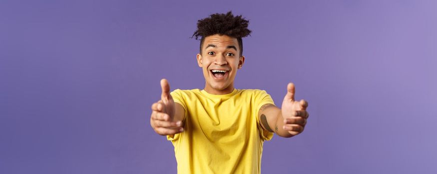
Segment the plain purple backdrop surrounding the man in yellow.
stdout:
<svg viewBox="0 0 437 174">
<path fill-rule="evenodd" d="M 203 88 L 198 19 L 250 20 L 235 87 L 309 101 L 303 134 L 264 145 L 262 172 L 437 173 L 437 2 L 0 2 L 1 174 L 172 174 L 154 133 L 159 80 Z"/>
</svg>

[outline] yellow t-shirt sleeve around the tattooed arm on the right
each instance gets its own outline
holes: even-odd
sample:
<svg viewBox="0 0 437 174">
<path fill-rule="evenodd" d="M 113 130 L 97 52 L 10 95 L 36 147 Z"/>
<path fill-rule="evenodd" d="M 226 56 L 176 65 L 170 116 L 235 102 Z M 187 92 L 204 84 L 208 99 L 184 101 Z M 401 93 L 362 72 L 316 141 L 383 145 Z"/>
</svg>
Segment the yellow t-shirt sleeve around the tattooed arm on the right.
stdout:
<svg viewBox="0 0 437 174">
<path fill-rule="evenodd" d="M 258 125 L 258 130 L 260 132 L 260 137 L 263 140 L 267 140 L 267 141 L 271 140 L 273 137 L 273 132 L 269 132 L 269 131 L 263 129 L 263 127 L 261 127 L 261 124 L 260 124 L 260 121 L 258 118 L 258 114 L 259 114 L 258 112 L 259 112 L 261 106 L 263 106 L 264 104 L 275 105 L 275 103 L 273 102 L 272 97 L 265 90 L 258 90 L 257 91 L 257 93 L 255 95 L 255 101 L 256 101 L 256 104 L 255 104 L 256 122 Z"/>
</svg>

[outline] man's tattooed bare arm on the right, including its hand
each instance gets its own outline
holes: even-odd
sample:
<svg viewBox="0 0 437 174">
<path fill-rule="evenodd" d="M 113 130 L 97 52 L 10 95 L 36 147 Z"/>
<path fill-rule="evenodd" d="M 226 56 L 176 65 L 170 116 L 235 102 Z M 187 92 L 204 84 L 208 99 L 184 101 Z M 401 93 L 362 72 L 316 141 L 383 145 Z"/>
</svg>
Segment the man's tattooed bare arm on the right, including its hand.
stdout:
<svg viewBox="0 0 437 174">
<path fill-rule="evenodd" d="M 293 137 L 304 131 L 309 116 L 308 102 L 294 100 L 295 87 L 292 83 L 287 86 L 287 94 L 282 101 L 282 108 L 273 104 L 264 104 L 258 112 L 261 126 L 281 137 Z"/>
</svg>

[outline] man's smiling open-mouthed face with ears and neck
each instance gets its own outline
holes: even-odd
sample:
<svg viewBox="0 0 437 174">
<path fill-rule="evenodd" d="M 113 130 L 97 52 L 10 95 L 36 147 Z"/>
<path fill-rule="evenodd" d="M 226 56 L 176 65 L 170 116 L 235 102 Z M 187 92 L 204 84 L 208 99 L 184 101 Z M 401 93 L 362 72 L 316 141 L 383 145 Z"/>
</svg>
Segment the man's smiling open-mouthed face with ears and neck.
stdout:
<svg viewBox="0 0 437 174">
<path fill-rule="evenodd" d="M 205 37 L 202 54 L 197 54 L 197 63 L 203 70 L 205 91 L 211 94 L 227 94 L 234 90 L 237 70 L 243 66 L 237 38 L 227 35 Z"/>
</svg>

